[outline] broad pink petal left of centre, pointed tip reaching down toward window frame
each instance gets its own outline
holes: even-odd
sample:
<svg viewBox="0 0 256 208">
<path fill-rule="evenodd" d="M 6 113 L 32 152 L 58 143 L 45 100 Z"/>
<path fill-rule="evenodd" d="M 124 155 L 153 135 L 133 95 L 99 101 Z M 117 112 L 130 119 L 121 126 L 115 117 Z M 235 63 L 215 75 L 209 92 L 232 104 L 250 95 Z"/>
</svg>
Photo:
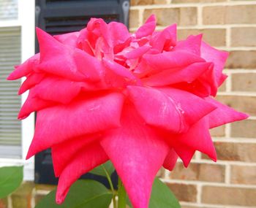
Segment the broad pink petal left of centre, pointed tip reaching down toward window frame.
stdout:
<svg viewBox="0 0 256 208">
<path fill-rule="evenodd" d="M 40 110 L 27 158 L 73 137 L 119 126 L 123 101 L 121 94 L 111 93 Z"/>
</svg>

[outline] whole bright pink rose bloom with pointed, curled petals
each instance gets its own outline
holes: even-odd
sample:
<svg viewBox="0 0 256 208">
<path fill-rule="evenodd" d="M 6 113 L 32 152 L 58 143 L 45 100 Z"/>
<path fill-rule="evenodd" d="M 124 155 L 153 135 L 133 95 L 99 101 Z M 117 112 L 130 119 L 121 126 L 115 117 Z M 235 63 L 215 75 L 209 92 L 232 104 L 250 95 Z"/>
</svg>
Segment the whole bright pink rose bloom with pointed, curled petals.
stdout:
<svg viewBox="0 0 256 208">
<path fill-rule="evenodd" d="M 59 36 L 37 28 L 40 53 L 8 77 L 27 77 L 18 118 L 37 112 L 27 158 L 51 148 L 57 203 L 110 160 L 133 206 L 146 208 L 161 166 L 172 170 L 178 157 L 188 166 L 195 150 L 216 161 L 209 128 L 247 118 L 213 98 L 227 77 L 226 52 L 202 35 L 177 41 L 176 25 L 155 27 L 152 15 L 135 34 L 94 18 Z"/>
</svg>

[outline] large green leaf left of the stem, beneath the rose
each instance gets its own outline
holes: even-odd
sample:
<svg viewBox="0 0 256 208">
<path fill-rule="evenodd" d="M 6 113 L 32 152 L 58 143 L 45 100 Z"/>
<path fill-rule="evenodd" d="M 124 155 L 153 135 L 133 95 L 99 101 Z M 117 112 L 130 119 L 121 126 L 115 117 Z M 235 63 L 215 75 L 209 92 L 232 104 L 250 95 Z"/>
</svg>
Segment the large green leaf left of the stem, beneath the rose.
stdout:
<svg viewBox="0 0 256 208">
<path fill-rule="evenodd" d="M 67 194 L 61 205 L 55 202 L 56 190 L 48 193 L 35 208 L 108 208 L 112 193 L 104 185 L 95 180 L 78 180 Z"/>
</svg>

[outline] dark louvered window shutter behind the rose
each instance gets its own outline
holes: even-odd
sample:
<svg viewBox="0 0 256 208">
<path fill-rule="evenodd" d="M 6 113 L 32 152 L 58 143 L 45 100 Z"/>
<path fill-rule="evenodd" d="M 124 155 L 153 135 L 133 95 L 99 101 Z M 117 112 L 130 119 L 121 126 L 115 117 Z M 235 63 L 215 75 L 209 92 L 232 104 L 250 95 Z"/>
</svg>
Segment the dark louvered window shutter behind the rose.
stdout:
<svg viewBox="0 0 256 208">
<path fill-rule="evenodd" d="M 129 1 L 127 0 L 36 0 L 36 26 L 49 34 L 64 34 L 84 28 L 90 18 L 102 18 L 107 23 L 118 21 L 128 27 Z M 36 40 L 36 53 L 39 52 Z M 35 182 L 56 184 L 50 150 L 35 156 Z M 85 174 L 82 178 L 98 180 L 108 186 L 105 177 Z M 112 179 L 117 185 L 117 175 Z"/>
</svg>

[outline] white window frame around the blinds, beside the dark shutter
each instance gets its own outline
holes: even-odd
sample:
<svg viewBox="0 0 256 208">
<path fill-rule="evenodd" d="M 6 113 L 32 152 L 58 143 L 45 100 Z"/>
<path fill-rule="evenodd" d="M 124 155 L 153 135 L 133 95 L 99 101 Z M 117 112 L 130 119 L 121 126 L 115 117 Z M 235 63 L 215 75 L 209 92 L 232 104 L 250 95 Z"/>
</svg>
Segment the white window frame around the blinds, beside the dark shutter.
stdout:
<svg viewBox="0 0 256 208">
<path fill-rule="evenodd" d="M 21 63 L 35 53 L 35 0 L 18 0 L 18 20 L 0 20 L 0 27 L 20 26 Z M 23 79 L 24 80 L 24 79 Z M 22 81 L 23 81 L 22 80 Z M 28 93 L 21 96 L 21 103 Z M 0 166 L 24 166 L 23 180 L 34 180 L 34 157 L 26 161 L 26 153 L 34 135 L 34 113 L 21 121 L 21 158 L 0 158 Z"/>
</svg>

